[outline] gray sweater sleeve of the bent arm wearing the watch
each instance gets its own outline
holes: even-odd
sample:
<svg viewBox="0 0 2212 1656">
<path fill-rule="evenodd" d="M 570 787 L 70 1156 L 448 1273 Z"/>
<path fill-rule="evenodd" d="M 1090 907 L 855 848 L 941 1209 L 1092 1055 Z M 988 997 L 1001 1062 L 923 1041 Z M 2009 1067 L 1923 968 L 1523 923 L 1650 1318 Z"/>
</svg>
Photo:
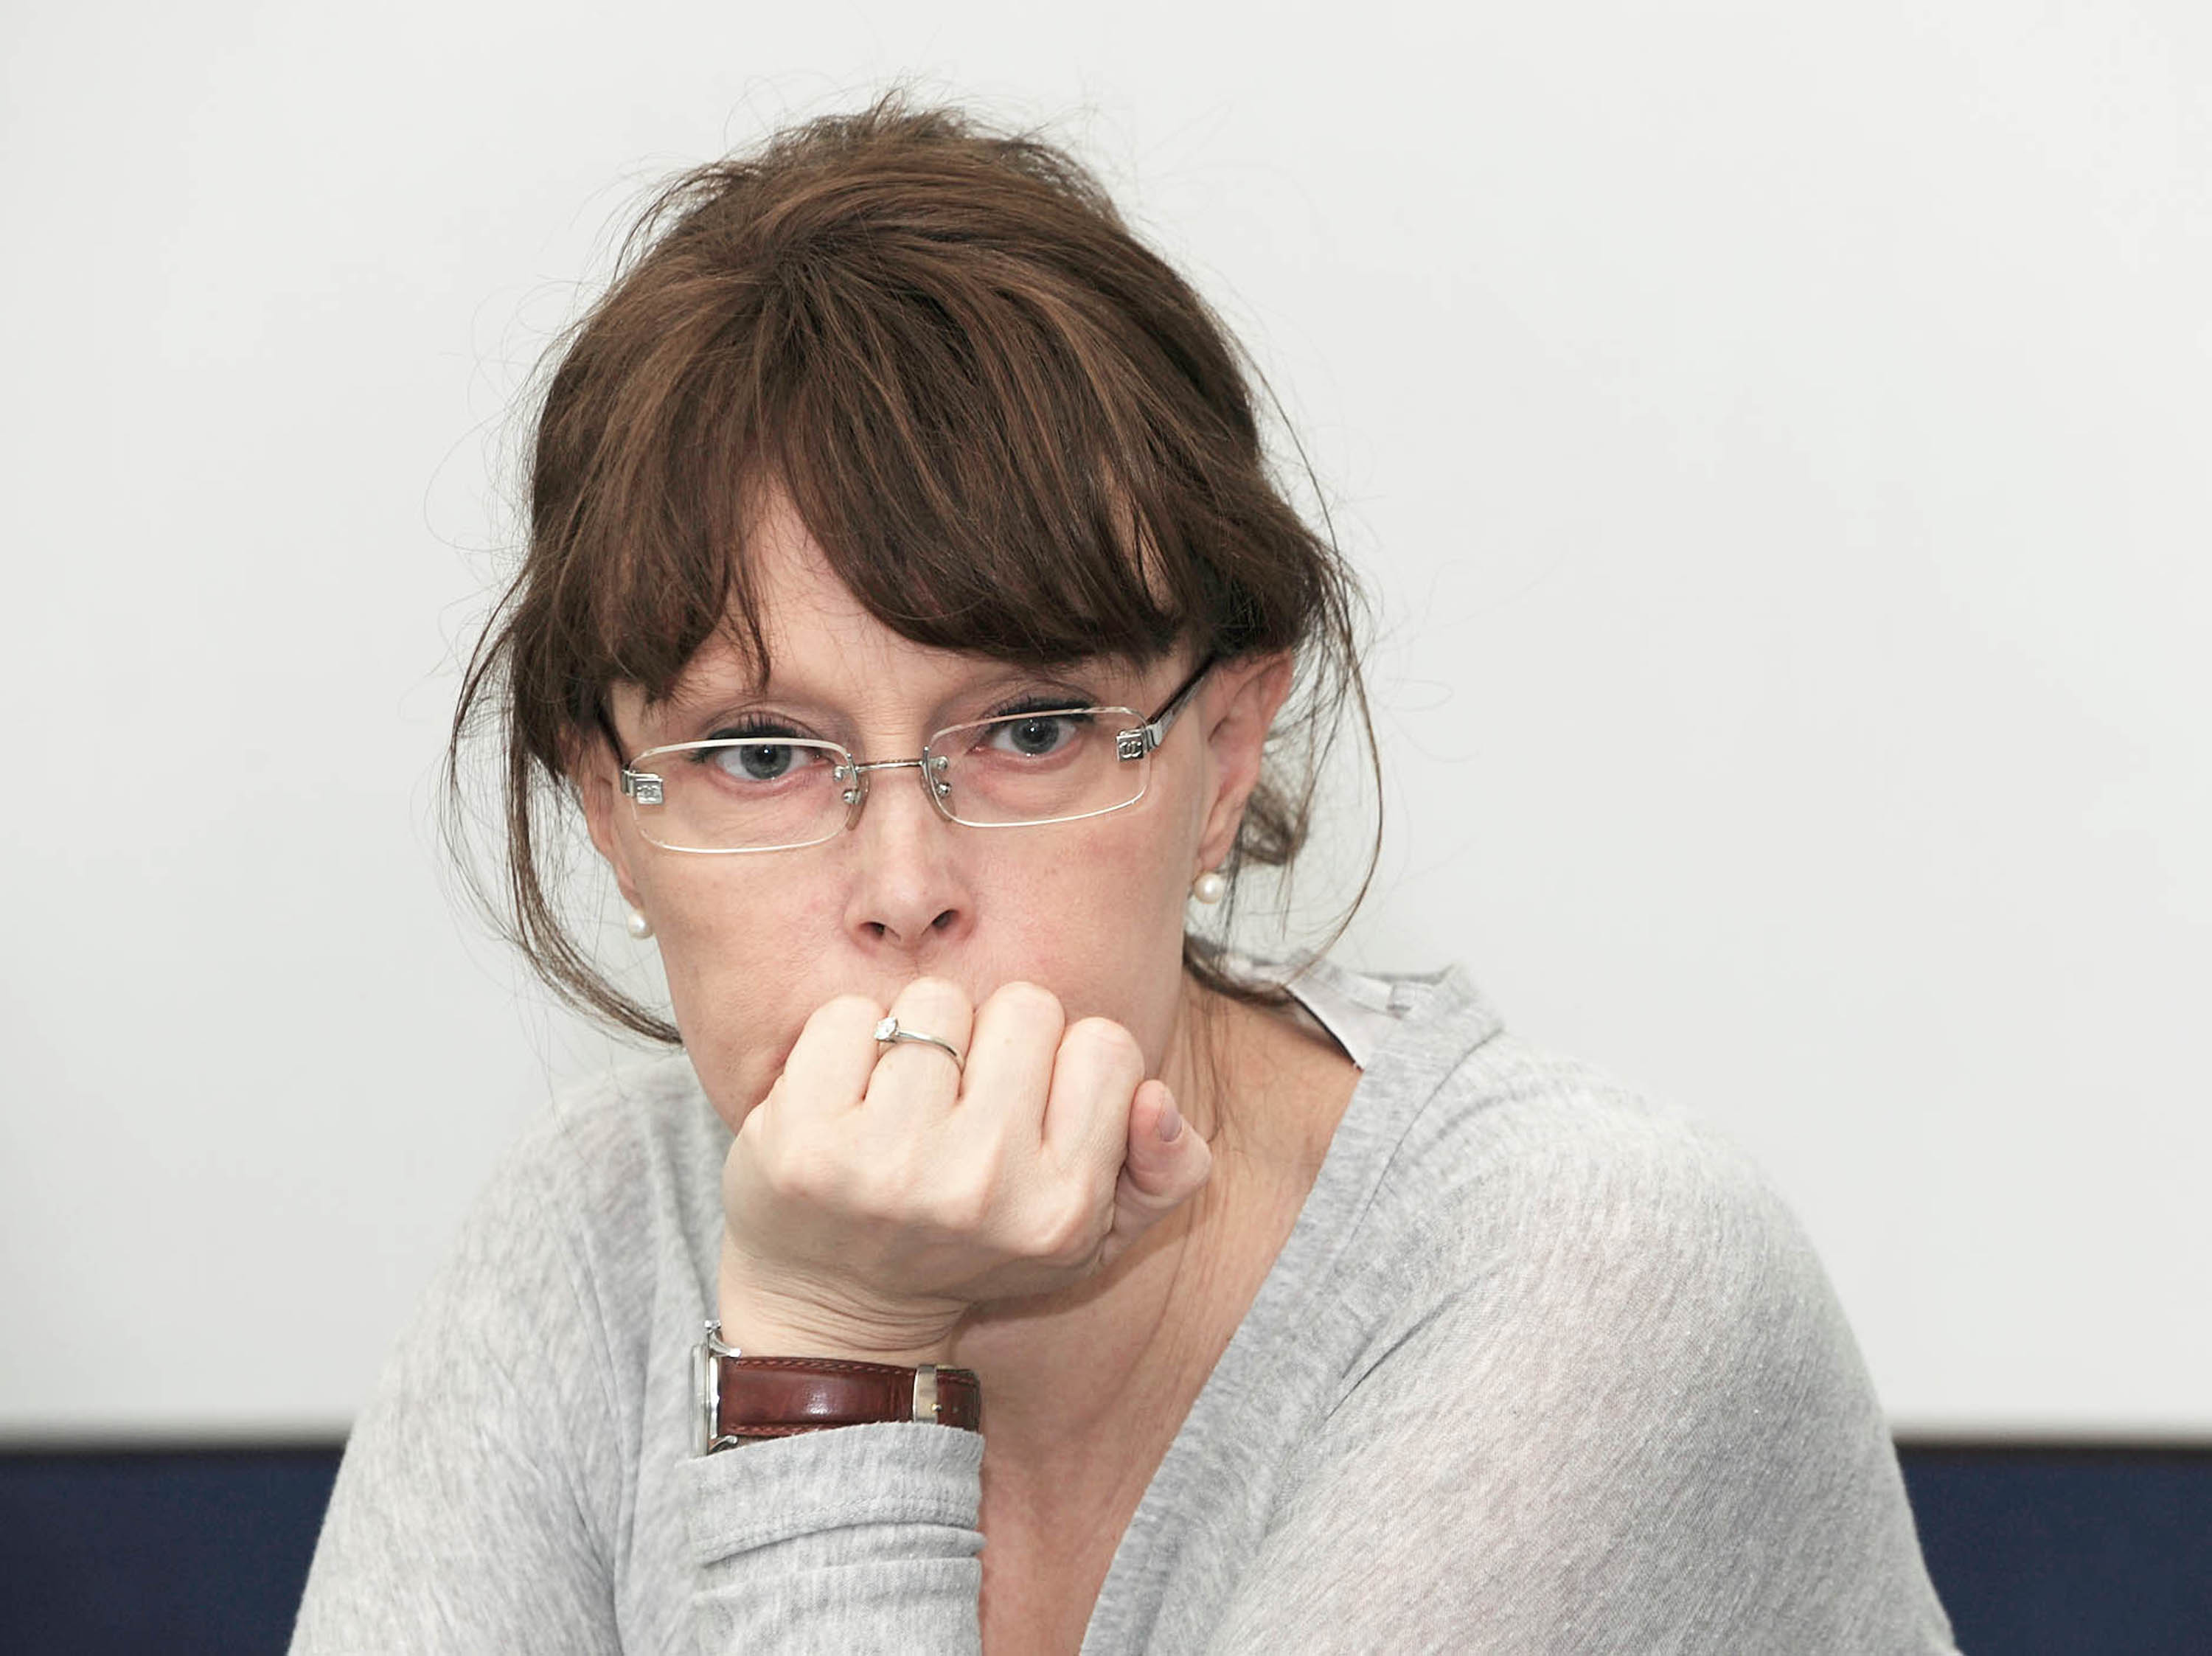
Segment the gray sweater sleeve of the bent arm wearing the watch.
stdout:
<svg viewBox="0 0 2212 1656">
<path fill-rule="evenodd" d="M 577 1161 L 549 1128 L 465 1220 L 347 1439 L 294 1656 L 975 1652 L 982 1439 L 885 1424 L 699 1457 L 681 1364 L 624 1408 L 608 1320 L 644 1289 L 595 1274 L 588 1238 L 644 1227 L 633 1170 Z"/>
</svg>

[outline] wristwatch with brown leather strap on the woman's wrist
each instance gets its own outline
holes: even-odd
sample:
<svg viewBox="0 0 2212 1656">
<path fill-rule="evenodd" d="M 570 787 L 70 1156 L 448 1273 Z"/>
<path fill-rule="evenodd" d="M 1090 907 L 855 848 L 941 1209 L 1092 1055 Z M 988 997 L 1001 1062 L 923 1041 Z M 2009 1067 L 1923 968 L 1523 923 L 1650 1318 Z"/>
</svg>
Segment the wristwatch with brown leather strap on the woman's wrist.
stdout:
<svg viewBox="0 0 2212 1656">
<path fill-rule="evenodd" d="M 723 1344 L 721 1322 L 708 1322 L 706 1340 L 692 1346 L 692 1377 L 701 1455 L 759 1437 L 792 1437 L 878 1419 L 982 1430 L 982 1384 L 973 1369 L 940 1369 L 933 1362 L 902 1369 L 847 1358 L 748 1358 Z"/>
</svg>

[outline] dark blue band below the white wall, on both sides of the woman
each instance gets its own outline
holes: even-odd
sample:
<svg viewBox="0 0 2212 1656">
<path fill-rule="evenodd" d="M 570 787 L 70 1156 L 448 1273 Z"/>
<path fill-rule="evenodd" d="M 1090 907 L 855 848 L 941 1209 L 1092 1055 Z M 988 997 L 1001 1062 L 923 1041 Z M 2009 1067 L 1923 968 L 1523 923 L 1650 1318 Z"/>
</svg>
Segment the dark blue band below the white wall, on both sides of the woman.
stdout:
<svg viewBox="0 0 2212 1656">
<path fill-rule="evenodd" d="M 1909 1444 L 1969 1656 L 2212 1656 L 2212 1450 Z M 0 1652 L 281 1652 L 330 1448 L 0 1455 Z"/>
</svg>

